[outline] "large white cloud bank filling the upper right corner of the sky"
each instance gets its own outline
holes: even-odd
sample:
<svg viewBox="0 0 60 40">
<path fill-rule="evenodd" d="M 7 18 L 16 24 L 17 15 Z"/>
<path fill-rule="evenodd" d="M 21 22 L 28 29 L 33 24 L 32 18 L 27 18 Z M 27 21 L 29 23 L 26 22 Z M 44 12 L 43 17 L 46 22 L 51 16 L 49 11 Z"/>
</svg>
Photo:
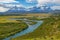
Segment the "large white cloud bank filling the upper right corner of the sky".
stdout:
<svg viewBox="0 0 60 40">
<path fill-rule="evenodd" d="M 36 5 L 37 7 L 42 7 L 45 4 L 46 5 L 53 5 L 52 7 L 53 10 L 55 9 L 60 9 L 60 7 L 57 7 L 57 5 L 60 5 L 60 0 L 37 0 L 38 4 Z"/>
</svg>

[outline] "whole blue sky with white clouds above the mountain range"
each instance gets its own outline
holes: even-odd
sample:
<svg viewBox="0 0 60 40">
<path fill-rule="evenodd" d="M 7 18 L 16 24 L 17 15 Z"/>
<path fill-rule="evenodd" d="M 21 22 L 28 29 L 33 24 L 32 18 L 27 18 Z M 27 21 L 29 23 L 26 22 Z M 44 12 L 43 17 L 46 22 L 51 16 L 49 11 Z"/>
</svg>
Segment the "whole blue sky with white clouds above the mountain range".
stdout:
<svg viewBox="0 0 60 40">
<path fill-rule="evenodd" d="M 5 5 L 3 3 L 12 3 L 12 4 Z M 13 7 L 14 6 L 13 3 L 16 3 L 16 6 L 18 7 L 25 7 L 26 9 L 34 6 L 40 7 L 42 5 L 51 6 L 53 10 L 60 9 L 60 0 L 0 0 L 0 12 L 6 12 L 10 9 L 5 8 L 1 5 Z"/>
</svg>

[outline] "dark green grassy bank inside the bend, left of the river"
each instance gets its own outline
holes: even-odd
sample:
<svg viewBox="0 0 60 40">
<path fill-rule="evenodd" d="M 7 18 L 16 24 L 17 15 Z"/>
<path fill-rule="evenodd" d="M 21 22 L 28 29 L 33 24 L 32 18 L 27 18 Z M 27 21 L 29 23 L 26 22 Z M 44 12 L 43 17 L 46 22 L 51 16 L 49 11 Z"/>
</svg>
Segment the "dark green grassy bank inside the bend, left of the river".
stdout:
<svg viewBox="0 0 60 40">
<path fill-rule="evenodd" d="M 28 25 L 23 22 L 1 22 L 0 23 L 0 40 L 9 36 L 15 35 L 16 33 L 25 30 Z"/>
</svg>

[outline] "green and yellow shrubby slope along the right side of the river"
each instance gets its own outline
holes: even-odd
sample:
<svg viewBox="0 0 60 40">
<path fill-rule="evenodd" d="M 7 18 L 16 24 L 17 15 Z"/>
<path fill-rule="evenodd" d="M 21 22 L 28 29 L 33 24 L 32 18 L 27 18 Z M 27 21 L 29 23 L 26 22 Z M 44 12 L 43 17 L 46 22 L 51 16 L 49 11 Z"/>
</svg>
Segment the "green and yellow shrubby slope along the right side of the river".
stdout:
<svg viewBox="0 0 60 40">
<path fill-rule="evenodd" d="M 60 16 L 42 19 L 44 23 L 34 32 L 12 40 L 60 40 Z"/>
</svg>

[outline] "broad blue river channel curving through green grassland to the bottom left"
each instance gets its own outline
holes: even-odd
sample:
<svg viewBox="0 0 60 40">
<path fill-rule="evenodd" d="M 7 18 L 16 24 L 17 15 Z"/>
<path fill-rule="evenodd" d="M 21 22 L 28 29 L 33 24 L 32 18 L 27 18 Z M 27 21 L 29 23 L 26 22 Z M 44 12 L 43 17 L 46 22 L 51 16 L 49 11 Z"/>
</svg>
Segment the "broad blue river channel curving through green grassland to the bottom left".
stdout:
<svg viewBox="0 0 60 40">
<path fill-rule="evenodd" d="M 13 36 L 10 36 L 10 37 L 7 37 L 7 38 L 5 38 L 5 39 L 3 39 L 3 40 L 10 40 L 11 38 L 16 38 L 16 37 L 19 37 L 19 36 L 23 36 L 23 35 L 25 35 L 25 34 L 27 34 L 27 33 L 31 33 L 31 32 L 33 32 L 35 29 L 37 29 L 42 23 L 43 23 L 43 21 L 36 21 L 37 23 L 36 24 L 34 24 L 34 25 L 29 25 L 27 22 L 27 24 L 28 24 L 28 28 L 27 29 L 25 29 L 25 30 L 23 30 L 23 31 L 21 31 L 21 32 L 19 32 L 19 33 L 16 33 L 15 35 L 13 35 Z"/>
</svg>

